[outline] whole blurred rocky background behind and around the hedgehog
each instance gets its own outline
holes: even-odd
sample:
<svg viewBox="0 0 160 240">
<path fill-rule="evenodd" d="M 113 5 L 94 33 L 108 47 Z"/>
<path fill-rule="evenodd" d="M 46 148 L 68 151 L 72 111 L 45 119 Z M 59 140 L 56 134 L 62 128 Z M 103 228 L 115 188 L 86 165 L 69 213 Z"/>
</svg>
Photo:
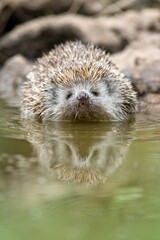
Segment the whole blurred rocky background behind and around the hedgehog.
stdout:
<svg viewBox="0 0 160 240">
<path fill-rule="evenodd" d="M 160 0 L 1 0 L 0 98 L 17 95 L 33 61 L 67 40 L 109 52 L 139 109 L 160 112 Z"/>
</svg>

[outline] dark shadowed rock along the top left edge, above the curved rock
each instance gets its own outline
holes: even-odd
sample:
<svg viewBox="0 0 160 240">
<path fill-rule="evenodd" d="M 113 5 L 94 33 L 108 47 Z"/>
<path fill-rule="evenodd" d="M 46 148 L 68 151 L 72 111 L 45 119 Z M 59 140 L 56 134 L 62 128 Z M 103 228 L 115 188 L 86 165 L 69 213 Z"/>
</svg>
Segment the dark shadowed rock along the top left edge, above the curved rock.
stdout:
<svg viewBox="0 0 160 240">
<path fill-rule="evenodd" d="M 0 2 L 0 34 L 39 16 L 64 12 L 94 15 L 102 8 L 102 3 L 98 0 L 2 0 Z"/>
</svg>

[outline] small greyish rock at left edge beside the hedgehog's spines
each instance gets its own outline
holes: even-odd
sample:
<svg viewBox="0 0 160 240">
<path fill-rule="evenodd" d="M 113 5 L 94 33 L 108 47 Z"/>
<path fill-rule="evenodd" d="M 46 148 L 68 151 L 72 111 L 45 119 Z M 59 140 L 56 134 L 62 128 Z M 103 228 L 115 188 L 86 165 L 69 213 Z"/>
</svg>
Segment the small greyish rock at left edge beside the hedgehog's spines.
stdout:
<svg viewBox="0 0 160 240">
<path fill-rule="evenodd" d="M 31 62 L 21 55 L 6 61 L 0 71 L 0 98 L 17 105 L 18 91 L 25 75 L 31 70 Z"/>
</svg>

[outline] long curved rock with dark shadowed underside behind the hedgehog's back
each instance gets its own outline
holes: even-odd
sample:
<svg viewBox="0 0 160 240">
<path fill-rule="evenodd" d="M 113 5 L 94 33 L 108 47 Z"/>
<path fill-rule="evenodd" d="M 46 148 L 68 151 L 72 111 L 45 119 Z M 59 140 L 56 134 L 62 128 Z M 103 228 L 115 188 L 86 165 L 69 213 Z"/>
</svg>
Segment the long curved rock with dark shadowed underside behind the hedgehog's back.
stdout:
<svg viewBox="0 0 160 240">
<path fill-rule="evenodd" d="M 103 19 L 76 15 L 49 16 L 21 24 L 0 39 L 0 63 L 18 52 L 36 58 L 60 42 L 80 39 L 116 51 L 122 46 L 117 33 Z M 28 51 L 28 47 L 30 51 Z"/>
</svg>

